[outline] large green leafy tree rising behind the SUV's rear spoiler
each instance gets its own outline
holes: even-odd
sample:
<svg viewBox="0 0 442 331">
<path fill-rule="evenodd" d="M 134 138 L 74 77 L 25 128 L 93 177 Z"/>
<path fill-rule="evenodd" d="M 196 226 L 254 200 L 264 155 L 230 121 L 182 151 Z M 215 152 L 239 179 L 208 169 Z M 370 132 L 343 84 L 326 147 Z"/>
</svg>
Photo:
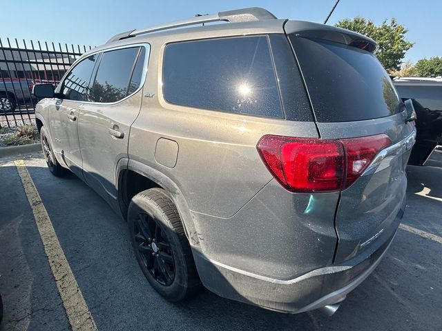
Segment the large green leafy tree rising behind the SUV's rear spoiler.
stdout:
<svg viewBox="0 0 442 331">
<path fill-rule="evenodd" d="M 373 21 L 355 17 L 338 21 L 336 26 L 365 34 L 376 41 L 379 45 L 376 57 L 386 70 L 400 70 L 405 52 L 413 46 L 413 43 L 405 39 L 408 30 L 398 24 L 396 19 L 391 19 L 390 22 L 385 19 L 380 26 L 376 26 Z"/>
</svg>

